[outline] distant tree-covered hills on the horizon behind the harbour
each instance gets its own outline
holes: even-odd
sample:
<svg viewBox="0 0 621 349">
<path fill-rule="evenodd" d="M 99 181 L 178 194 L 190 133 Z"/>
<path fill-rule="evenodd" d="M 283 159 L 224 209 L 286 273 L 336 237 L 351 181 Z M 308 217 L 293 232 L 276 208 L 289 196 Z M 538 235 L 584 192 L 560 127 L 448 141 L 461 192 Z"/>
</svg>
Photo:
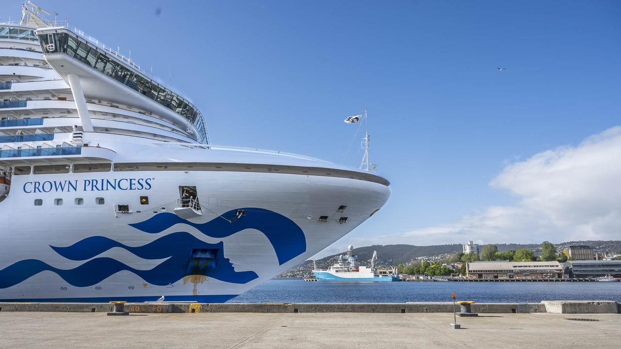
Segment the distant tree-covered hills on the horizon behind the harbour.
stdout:
<svg viewBox="0 0 621 349">
<path fill-rule="evenodd" d="M 496 243 L 499 252 L 505 252 L 509 250 L 518 250 L 520 248 L 528 248 L 535 251 L 538 255 L 541 250 L 541 245 L 538 243 Z M 595 252 L 621 252 L 621 241 L 618 240 L 584 240 L 584 241 L 569 241 L 563 243 L 555 243 L 556 248 L 561 249 L 569 245 L 589 245 Z M 458 243 L 451 245 L 430 245 L 430 246 L 415 246 L 415 245 L 372 245 L 365 247 L 356 247 L 354 253 L 358 256 L 360 265 L 370 265 L 371 256 L 373 251 L 378 252 L 378 262 L 376 263 L 379 268 L 391 268 L 399 264 L 406 264 L 414 260 L 442 260 L 446 256 L 453 252 L 461 252 L 462 246 Z M 317 268 L 327 269 L 334 263 L 339 255 L 344 255 L 345 251 L 336 255 L 327 256 L 316 260 Z M 284 278 L 304 278 L 311 276 L 312 274 L 312 261 L 304 261 L 301 265 L 292 268 L 289 271 L 281 274 L 280 277 Z"/>
</svg>

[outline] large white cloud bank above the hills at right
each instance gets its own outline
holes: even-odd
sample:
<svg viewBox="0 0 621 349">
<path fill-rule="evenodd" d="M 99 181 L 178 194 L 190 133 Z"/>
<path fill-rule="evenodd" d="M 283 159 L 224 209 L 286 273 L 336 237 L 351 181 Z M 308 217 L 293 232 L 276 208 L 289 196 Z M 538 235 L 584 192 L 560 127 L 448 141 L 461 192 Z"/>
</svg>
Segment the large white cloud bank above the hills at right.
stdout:
<svg viewBox="0 0 621 349">
<path fill-rule="evenodd" d="M 487 207 L 456 222 L 395 235 L 345 238 L 357 246 L 541 243 L 621 237 L 621 127 L 510 163 L 489 183 L 517 197 L 515 206 Z M 323 253 L 322 253 L 323 254 Z"/>
</svg>

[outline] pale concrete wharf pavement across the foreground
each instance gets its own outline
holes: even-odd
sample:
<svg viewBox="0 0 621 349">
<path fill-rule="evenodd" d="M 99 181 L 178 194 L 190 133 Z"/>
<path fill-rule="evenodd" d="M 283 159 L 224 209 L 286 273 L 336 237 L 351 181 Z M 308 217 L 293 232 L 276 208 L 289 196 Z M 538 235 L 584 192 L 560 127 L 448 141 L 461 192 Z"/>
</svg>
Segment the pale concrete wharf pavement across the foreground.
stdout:
<svg viewBox="0 0 621 349">
<path fill-rule="evenodd" d="M 621 342 L 619 314 L 0 312 L 0 348 L 584 348 Z M 599 321 L 574 321 L 571 318 Z"/>
</svg>

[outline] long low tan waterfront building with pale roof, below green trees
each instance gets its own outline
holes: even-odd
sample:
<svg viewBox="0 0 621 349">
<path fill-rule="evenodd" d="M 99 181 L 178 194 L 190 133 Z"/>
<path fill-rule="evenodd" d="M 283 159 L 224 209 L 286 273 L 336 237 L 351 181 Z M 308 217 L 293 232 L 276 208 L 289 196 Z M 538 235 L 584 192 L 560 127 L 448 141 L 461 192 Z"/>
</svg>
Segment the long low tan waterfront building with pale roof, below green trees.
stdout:
<svg viewBox="0 0 621 349">
<path fill-rule="evenodd" d="M 558 261 L 476 261 L 466 263 L 469 279 L 561 279 L 563 265 Z"/>
</svg>

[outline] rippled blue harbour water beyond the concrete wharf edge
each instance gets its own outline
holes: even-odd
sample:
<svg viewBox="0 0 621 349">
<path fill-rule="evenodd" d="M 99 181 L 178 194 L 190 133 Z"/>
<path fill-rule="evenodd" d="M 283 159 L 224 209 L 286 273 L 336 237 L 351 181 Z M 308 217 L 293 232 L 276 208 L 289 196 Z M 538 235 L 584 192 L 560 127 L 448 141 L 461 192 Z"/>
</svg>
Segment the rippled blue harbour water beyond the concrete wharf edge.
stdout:
<svg viewBox="0 0 621 349">
<path fill-rule="evenodd" d="M 610 300 L 621 302 L 617 283 L 337 283 L 302 279 L 271 279 L 229 302 L 448 302 L 451 292 L 458 299 L 476 302 L 540 302 L 546 300 Z"/>
</svg>

